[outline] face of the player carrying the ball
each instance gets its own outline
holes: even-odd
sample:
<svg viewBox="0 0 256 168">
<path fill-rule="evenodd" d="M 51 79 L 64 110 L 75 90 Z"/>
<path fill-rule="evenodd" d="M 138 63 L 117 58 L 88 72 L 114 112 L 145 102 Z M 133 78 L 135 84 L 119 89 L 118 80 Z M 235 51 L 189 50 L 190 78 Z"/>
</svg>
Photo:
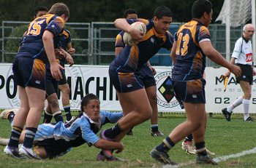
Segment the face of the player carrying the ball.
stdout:
<svg viewBox="0 0 256 168">
<path fill-rule="evenodd" d="M 164 34 L 170 27 L 170 23 L 173 22 L 173 18 L 164 16 L 161 19 L 157 19 L 157 17 L 154 17 L 153 21 L 154 29 L 157 31 L 157 33 Z"/>
</svg>

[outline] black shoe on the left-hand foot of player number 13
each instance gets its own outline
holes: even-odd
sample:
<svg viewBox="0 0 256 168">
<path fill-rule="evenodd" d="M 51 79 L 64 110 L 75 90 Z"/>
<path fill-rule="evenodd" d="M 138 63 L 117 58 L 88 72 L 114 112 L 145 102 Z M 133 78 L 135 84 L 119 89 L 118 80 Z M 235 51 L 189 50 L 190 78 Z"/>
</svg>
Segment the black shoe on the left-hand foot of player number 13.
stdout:
<svg viewBox="0 0 256 168">
<path fill-rule="evenodd" d="M 157 151 L 157 148 L 154 148 L 150 152 L 150 155 L 153 159 L 156 159 L 157 161 L 160 161 L 163 164 L 177 165 L 176 162 L 170 160 L 169 155 L 166 152 Z"/>
</svg>

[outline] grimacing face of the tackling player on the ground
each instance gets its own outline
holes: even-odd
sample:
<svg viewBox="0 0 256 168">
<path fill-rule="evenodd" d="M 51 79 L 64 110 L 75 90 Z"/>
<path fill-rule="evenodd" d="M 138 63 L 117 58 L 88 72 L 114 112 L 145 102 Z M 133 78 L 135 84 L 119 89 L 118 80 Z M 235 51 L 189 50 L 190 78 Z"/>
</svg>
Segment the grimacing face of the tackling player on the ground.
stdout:
<svg viewBox="0 0 256 168">
<path fill-rule="evenodd" d="M 99 100 L 90 100 L 86 106 L 83 106 L 83 111 L 92 121 L 99 119 L 99 110 Z"/>
</svg>

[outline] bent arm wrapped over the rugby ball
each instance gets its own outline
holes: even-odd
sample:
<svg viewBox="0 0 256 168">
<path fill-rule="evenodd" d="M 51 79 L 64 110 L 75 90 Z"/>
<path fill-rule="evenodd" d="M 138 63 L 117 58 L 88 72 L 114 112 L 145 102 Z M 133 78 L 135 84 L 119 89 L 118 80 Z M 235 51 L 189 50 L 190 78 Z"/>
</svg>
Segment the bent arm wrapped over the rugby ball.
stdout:
<svg viewBox="0 0 256 168">
<path fill-rule="evenodd" d="M 129 25 L 129 23 L 127 23 L 127 20 L 124 18 L 116 19 L 114 25 L 116 26 L 116 28 L 119 28 L 122 31 L 129 33 L 132 36 L 132 39 L 135 41 L 140 41 L 143 39 L 144 33 L 133 28 L 131 25 Z"/>
</svg>

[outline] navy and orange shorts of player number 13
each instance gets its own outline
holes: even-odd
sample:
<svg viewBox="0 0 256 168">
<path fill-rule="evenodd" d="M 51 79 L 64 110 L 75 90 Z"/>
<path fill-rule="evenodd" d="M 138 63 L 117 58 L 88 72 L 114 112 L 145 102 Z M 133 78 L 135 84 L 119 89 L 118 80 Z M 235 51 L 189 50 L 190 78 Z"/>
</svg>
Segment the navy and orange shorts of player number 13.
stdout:
<svg viewBox="0 0 256 168">
<path fill-rule="evenodd" d="M 206 80 L 173 81 L 176 99 L 181 103 L 206 103 Z"/>
</svg>

